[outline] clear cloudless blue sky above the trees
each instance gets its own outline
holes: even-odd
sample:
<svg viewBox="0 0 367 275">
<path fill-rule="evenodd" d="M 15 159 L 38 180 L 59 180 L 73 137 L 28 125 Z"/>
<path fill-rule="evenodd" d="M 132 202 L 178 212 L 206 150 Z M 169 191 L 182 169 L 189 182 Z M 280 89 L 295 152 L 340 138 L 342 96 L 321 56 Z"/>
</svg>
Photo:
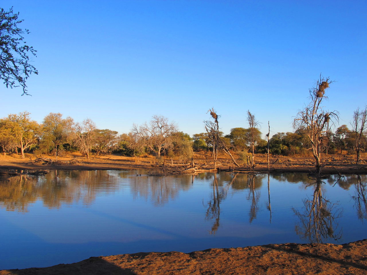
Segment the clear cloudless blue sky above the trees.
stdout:
<svg viewBox="0 0 367 275">
<path fill-rule="evenodd" d="M 364 107 L 367 1 L 1 1 L 14 6 L 37 51 L 28 92 L 0 86 L 0 117 L 50 112 L 129 132 L 154 114 L 204 131 L 207 110 L 224 133 L 292 131 L 322 73 L 335 80 L 327 109 L 348 124 Z"/>
</svg>

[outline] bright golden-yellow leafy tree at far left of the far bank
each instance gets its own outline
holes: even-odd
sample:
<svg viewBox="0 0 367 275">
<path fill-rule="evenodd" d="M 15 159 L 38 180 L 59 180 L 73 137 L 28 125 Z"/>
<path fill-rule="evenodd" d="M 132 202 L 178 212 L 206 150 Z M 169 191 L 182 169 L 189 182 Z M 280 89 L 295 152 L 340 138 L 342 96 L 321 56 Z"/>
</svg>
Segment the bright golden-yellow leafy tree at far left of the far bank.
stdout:
<svg viewBox="0 0 367 275">
<path fill-rule="evenodd" d="M 36 144 L 40 135 L 40 125 L 31 120 L 29 115 L 28 112 L 10 114 L 1 123 L 4 127 L 3 135 L 8 134 L 8 138 L 21 150 L 22 158 L 24 158 L 24 150 Z"/>
</svg>

